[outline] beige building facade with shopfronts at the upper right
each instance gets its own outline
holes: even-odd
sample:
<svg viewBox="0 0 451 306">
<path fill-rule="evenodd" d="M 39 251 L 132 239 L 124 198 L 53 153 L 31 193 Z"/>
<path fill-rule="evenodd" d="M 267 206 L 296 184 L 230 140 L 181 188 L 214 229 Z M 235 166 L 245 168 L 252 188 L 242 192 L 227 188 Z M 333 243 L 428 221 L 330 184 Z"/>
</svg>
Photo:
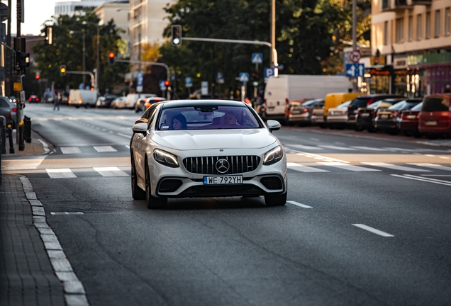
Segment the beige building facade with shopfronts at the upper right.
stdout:
<svg viewBox="0 0 451 306">
<path fill-rule="evenodd" d="M 373 0 L 370 86 L 408 97 L 445 91 L 451 84 L 450 9 L 450 0 Z"/>
</svg>

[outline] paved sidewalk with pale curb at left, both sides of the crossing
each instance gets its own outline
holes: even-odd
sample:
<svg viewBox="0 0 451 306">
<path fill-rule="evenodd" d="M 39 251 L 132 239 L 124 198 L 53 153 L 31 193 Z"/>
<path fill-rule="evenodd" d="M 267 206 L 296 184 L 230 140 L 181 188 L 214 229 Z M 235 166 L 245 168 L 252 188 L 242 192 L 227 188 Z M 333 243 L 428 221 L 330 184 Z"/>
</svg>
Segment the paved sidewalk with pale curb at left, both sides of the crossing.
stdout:
<svg viewBox="0 0 451 306">
<path fill-rule="evenodd" d="M 37 133 L 31 137 L 23 151 L 14 144 L 14 154 L 6 142 L 3 156 L 45 154 L 52 148 Z M 0 305 L 89 306 L 26 176 L 1 177 L 0 250 Z"/>
</svg>

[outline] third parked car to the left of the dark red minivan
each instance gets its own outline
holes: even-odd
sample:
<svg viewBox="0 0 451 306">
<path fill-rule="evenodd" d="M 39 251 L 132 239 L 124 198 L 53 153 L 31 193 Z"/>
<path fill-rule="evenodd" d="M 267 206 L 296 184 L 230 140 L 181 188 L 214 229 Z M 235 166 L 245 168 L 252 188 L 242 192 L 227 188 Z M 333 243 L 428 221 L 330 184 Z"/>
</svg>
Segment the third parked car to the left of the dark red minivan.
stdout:
<svg viewBox="0 0 451 306">
<path fill-rule="evenodd" d="M 355 114 L 354 130 L 367 130 L 368 132 L 376 132 L 377 130 L 374 127 L 374 118 L 377 115 L 377 111 L 382 108 L 389 108 L 390 106 L 393 106 L 401 100 L 402 98 L 386 98 L 384 100 L 374 102 L 368 107 L 357 108 L 357 113 Z"/>
</svg>

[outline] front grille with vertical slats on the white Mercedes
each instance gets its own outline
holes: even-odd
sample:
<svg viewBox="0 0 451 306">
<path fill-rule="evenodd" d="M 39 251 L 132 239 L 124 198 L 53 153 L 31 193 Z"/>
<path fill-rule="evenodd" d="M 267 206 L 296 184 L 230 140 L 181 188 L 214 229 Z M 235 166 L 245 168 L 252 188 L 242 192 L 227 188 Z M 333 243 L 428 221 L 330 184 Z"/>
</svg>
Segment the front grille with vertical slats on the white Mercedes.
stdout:
<svg viewBox="0 0 451 306">
<path fill-rule="evenodd" d="M 227 160 L 229 169 L 221 173 L 216 169 L 219 159 Z M 254 171 L 260 164 L 260 157 L 252 155 L 217 156 L 217 157 L 188 157 L 183 160 L 186 170 L 194 174 L 239 174 Z"/>
</svg>

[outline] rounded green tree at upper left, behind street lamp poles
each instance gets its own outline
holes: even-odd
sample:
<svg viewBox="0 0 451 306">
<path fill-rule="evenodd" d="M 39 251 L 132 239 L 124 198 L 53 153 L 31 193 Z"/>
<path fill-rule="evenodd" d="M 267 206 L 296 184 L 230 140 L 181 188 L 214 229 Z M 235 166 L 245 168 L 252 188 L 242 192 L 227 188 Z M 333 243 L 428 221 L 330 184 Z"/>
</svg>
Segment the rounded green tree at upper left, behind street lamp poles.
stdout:
<svg viewBox="0 0 451 306">
<path fill-rule="evenodd" d="M 85 22 L 85 24 L 83 24 Z M 87 72 L 93 72 L 97 67 L 97 26 L 99 18 L 93 11 L 85 11 L 83 16 L 62 15 L 55 22 L 49 20 L 45 26 L 53 27 L 53 45 L 38 42 L 33 47 L 36 53 L 35 69 L 40 71 L 41 79 L 48 79 L 48 86 L 55 81 L 55 88 L 65 89 L 66 86 L 77 89 L 83 81 L 81 74 L 66 74 L 60 76 L 60 65 L 65 64 L 68 71 L 83 70 L 83 56 Z M 74 31 L 74 33 L 69 33 Z M 111 20 L 99 28 L 99 90 L 104 93 L 106 88 L 112 89 L 115 84 L 123 84 L 124 72 L 128 72 L 128 64 L 116 63 L 108 65 L 108 51 L 116 52 L 123 49 L 120 29 Z M 41 30 L 45 32 L 45 28 Z M 83 35 L 85 35 L 85 52 L 83 54 Z M 94 73 L 94 72 L 93 72 Z M 85 77 L 85 85 L 90 85 L 90 77 Z M 111 92 L 111 90 L 110 90 Z"/>
</svg>

